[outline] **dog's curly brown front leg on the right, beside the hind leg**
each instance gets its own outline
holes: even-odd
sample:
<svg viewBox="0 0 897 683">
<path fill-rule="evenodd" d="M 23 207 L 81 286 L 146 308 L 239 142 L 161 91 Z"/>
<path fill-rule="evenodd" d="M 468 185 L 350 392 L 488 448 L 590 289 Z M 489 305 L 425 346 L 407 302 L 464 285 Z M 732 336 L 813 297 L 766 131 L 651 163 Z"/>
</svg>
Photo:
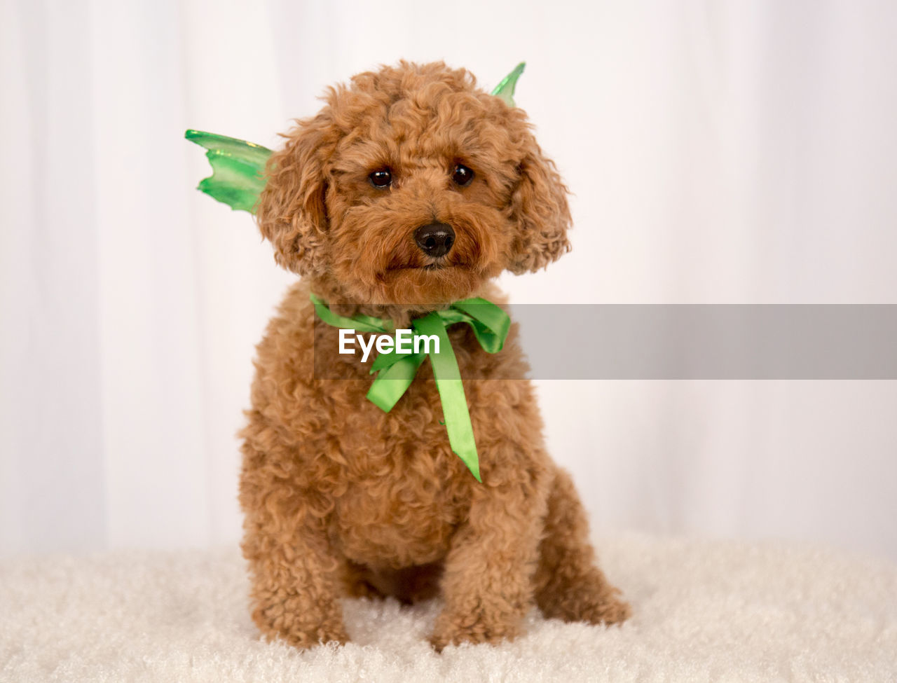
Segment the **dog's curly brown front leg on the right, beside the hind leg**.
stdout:
<svg viewBox="0 0 897 683">
<path fill-rule="evenodd" d="M 534 494 L 537 486 L 475 486 L 468 520 L 446 558 L 445 607 L 430 639 L 438 651 L 514 638 L 533 604 L 544 497 Z"/>
</svg>

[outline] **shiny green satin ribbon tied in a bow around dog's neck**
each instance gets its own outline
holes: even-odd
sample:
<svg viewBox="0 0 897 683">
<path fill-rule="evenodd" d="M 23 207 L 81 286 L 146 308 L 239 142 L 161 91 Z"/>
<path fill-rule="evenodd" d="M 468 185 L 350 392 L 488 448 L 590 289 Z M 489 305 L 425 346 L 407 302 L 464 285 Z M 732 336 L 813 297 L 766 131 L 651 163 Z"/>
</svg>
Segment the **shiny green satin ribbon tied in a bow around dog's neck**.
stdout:
<svg viewBox="0 0 897 683">
<path fill-rule="evenodd" d="M 311 302 L 315 312 L 325 323 L 333 327 L 354 329 L 360 332 L 393 334 L 395 329 L 390 321 L 373 316 L 337 316 L 327 304 L 314 294 Z M 445 310 L 433 311 L 426 316 L 411 321 L 418 334 L 435 335 L 440 340 L 440 352 L 434 350 L 418 353 L 399 353 L 396 344 L 386 353 L 380 353 L 370 374 L 377 373 L 368 391 L 368 400 L 381 411 L 389 412 L 402 398 L 421 367 L 423 360 L 430 356 L 433 377 L 440 393 L 442 414 L 445 417 L 448 443 L 471 471 L 477 481 L 480 479 L 480 460 L 476 454 L 474 426 L 467 411 L 467 398 L 461 382 L 461 371 L 457 367 L 455 351 L 448 341 L 448 326 L 466 323 L 474 331 L 477 342 L 487 353 L 497 353 L 504 345 L 510 329 L 510 317 L 491 301 L 484 298 L 466 298 L 456 301 Z"/>
</svg>

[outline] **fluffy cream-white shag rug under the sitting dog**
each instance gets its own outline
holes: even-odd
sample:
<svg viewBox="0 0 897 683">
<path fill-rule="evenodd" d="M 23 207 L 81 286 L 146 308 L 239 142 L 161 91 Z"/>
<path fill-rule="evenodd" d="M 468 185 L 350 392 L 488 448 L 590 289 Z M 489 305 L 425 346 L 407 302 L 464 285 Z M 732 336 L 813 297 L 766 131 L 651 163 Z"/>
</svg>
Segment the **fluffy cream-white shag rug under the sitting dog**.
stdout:
<svg viewBox="0 0 897 683">
<path fill-rule="evenodd" d="M 598 540 L 623 627 L 546 621 L 500 647 L 425 637 L 434 603 L 346 601 L 353 643 L 300 653 L 248 618 L 236 549 L 0 563 L 0 680 L 897 680 L 897 566 L 780 544 Z"/>
</svg>

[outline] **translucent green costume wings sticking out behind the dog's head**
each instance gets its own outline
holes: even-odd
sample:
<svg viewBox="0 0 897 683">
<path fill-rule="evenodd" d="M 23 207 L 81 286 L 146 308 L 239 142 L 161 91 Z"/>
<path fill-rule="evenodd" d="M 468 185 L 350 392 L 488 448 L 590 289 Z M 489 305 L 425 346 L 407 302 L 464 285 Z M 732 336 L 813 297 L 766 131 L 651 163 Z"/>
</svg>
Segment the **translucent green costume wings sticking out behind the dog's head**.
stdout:
<svg viewBox="0 0 897 683">
<path fill-rule="evenodd" d="M 492 95 L 503 99 L 509 107 L 516 107 L 514 88 L 526 65 L 520 62 L 515 66 L 495 86 Z M 196 189 L 234 211 L 255 213 L 258 197 L 265 188 L 265 164 L 273 152 L 260 144 L 203 131 L 188 130 L 184 137 L 205 147 L 205 156 L 212 165 L 212 175 L 203 178 Z"/>
</svg>

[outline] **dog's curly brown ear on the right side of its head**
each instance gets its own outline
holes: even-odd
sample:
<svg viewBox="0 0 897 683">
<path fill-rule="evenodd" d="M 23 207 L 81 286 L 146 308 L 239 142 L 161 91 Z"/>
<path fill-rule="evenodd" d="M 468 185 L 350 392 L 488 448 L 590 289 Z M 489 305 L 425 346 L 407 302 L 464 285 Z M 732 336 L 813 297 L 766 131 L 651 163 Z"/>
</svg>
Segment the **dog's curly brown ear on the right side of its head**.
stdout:
<svg viewBox="0 0 897 683">
<path fill-rule="evenodd" d="M 511 246 L 508 270 L 515 273 L 537 271 L 570 251 L 567 187 L 554 162 L 544 156 L 528 131 L 524 145 L 518 186 L 510 200 L 511 217 L 517 222 L 518 232 Z"/>
</svg>

